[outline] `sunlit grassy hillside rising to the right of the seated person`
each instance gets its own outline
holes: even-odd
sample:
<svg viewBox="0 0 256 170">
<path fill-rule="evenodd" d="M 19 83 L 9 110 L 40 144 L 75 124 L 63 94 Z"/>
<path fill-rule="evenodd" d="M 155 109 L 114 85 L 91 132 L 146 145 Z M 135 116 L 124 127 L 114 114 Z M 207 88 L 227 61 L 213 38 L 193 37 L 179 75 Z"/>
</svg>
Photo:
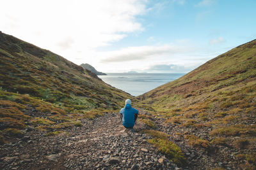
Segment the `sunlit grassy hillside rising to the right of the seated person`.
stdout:
<svg viewBox="0 0 256 170">
<path fill-rule="evenodd" d="M 221 162 L 216 167 L 255 169 L 256 40 L 138 99 L 137 106 L 160 119 L 162 131 L 173 140 L 205 152 L 203 162 L 214 159 Z"/>
</svg>

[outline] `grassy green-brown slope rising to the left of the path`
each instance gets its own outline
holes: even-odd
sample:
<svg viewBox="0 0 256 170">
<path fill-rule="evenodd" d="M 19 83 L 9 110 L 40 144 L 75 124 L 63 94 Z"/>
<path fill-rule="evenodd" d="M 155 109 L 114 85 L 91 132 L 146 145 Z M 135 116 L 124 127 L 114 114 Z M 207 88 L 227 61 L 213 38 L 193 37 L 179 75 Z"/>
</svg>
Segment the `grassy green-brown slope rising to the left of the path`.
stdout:
<svg viewBox="0 0 256 170">
<path fill-rule="evenodd" d="M 127 98 L 60 55 L 0 32 L 0 143 L 26 126 L 81 125 L 80 118 L 116 110 Z"/>
</svg>

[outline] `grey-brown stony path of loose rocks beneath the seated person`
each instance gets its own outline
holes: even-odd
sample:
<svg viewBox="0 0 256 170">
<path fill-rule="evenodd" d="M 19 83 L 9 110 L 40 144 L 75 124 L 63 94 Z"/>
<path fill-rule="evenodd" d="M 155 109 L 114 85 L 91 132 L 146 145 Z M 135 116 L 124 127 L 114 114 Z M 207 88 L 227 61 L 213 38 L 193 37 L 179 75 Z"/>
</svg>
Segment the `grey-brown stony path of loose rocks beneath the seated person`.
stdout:
<svg viewBox="0 0 256 170">
<path fill-rule="evenodd" d="M 141 122 L 134 132 L 118 113 L 82 123 L 56 136 L 26 129 L 24 138 L 0 146 L 1 169 L 180 169 L 147 143 Z"/>
</svg>

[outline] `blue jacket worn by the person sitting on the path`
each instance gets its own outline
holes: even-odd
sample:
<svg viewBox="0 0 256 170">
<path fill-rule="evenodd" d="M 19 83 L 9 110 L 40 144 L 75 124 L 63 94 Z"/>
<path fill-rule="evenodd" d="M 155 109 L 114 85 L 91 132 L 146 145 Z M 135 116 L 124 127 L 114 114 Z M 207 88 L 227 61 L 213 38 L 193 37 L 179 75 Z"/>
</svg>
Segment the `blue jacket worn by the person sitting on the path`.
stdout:
<svg viewBox="0 0 256 170">
<path fill-rule="evenodd" d="M 139 111 L 132 108 L 131 104 L 126 104 L 124 108 L 120 110 L 120 113 L 123 114 L 123 125 L 124 127 L 132 128 L 134 126 L 134 114 L 138 114 Z"/>
</svg>

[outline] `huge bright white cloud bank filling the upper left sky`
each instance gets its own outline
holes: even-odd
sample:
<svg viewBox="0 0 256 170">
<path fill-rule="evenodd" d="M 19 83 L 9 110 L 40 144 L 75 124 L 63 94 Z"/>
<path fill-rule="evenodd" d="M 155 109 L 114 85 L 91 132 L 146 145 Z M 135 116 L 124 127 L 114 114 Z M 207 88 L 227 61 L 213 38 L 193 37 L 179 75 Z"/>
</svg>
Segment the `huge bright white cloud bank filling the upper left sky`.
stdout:
<svg viewBox="0 0 256 170">
<path fill-rule="evenodd" d="M 33 1 L 1 3 L 0 28 L 6 34 L 58 53 L 68 60 L 95 60 L 97 48 L 144 30 L 136 17 L 146 0 Z"/>
</svg>

